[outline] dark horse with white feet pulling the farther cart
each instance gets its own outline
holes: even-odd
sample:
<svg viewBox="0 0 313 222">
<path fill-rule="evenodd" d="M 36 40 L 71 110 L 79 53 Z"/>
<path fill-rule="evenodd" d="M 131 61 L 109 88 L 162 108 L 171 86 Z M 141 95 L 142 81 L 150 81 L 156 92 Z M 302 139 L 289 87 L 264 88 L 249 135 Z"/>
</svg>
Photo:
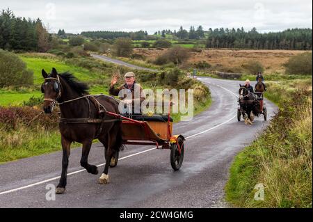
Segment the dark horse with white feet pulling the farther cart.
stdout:
<svg viewBox="0 0 313 222">
<path fill-rule="evenodd" d="M 252 125 L 255 116 L 259 116 L 259 102 L 257 102 L 253 93 L 250 93 L 245 86 L 241 85 L 239 88 L 239 104 L 246 124 Z"/>
</svg>

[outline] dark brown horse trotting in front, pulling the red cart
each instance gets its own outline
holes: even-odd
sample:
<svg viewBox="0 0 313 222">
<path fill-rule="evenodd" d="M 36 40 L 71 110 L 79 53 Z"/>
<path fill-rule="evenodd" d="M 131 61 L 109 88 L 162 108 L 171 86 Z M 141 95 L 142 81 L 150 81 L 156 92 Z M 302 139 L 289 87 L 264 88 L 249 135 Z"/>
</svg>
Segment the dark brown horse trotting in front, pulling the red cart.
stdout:
<svg viewBox="0 0 313 222">
<path fill-rule="evenodd" d="M 47 74 L 45 70 L 42 70 L 42 77 L 45 78 L 45 82 L 42 84 L 42 93 L 45 93 L 43 107 L 45 113 L 51 113 L 56 103 L 59 104 L 61 111 L 59 128 L 63 158 L 61 179 L 56 193 L 65 191 L 70 145 L 73 142 L 83 144 L 81 166 L 86 168 L 88 173 L 97 174 L 97 166 L 88 164 L 88 154 L 93 139 L 99 139 L 105 147 L 106 157 L 106 164 L 101 177 L 99 177 L 99 183 L 108 183 L 109 160 L 113 158 L 115 152 L 122 148 L 121 122 L 114 120 L 114 117 L 111 116 L 103 117 L 106 122 L 102 123 L 82 122 L 82 120 L 99 120 L 97 101 L 99 102 L 98 106 L 102 106 L 106 111 L 113 113 L 118 113 L 118 102 L 109 96 L 100 96 L 97 97 L 97 101 L 92 101 L 88 96 L 88 86 L 77 81 L 69 72 L 58 74 L 53 68 L 51 74 Z M 61 121 L 62 119 L 63 121 Z M 77 122 L 74 122 L 75 120 Z"/>
</svg>

